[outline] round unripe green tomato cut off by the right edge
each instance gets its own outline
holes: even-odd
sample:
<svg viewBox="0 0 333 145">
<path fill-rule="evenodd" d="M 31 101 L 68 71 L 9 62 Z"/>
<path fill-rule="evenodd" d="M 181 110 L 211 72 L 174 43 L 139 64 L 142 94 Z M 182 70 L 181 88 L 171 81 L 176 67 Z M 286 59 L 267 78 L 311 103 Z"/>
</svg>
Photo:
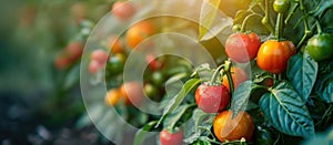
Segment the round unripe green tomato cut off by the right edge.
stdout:
<svg viewBox="0 0 333 145">
<path fill-rule="evenodd" d="M 333 34 L 322 33 L 313 35 L 305 46 L 310 56 L 316 62 L 333 56 Z"/>
</svg>

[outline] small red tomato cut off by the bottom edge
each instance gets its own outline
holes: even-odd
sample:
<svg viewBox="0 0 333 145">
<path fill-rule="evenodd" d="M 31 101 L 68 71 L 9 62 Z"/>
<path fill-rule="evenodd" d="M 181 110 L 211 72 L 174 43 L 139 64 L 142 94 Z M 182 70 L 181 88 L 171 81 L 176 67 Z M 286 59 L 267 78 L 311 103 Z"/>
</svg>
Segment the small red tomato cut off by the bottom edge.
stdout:
<svg viewBox="0 0 333 145">
<path fill-rule="evenodd" d="M 183 138 L 184 135 L 182 131 L 171 133 L 168 130 L 163 130 L 160 133 L 161 145 L 182 145 Z"/>
</svg>

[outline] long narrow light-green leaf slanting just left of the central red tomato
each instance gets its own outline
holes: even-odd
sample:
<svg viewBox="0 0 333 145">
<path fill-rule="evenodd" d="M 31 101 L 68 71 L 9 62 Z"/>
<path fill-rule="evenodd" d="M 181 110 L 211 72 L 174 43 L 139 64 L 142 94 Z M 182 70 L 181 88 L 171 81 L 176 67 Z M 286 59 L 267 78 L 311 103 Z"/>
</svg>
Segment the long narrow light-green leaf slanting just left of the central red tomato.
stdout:
<svg viewBox="0 0 333 145">
<path fill-rule="evenodd" d="M 182 103 L 186 94 L 189 94 L 189 92 L 192 89 L 194 89 L 200 83 L 200 81 L 201 81 L 200 79 L 191 79 L 184 84 L 182 90 L 169 102 L 169 105 L 164 108 L 163 115 L 161 116 L 157 126 L 159 126 L 161 122 L 164 121 L 165 117 Z"/>
</svg>

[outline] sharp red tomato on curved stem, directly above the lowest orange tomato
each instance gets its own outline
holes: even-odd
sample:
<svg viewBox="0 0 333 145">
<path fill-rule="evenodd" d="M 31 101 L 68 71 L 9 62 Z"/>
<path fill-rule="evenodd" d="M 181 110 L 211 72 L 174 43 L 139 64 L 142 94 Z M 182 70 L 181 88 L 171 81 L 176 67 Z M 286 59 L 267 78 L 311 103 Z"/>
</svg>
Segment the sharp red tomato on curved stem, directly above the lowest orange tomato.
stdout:
<svg viewBox="0 0 333 145">
<path fill-rule="evenodd" d="M 201 84 L 195 91 L 198 107 L 205 113 L 224 110 L 230 102 L 230 93 L 224 85 Z"/>
</svg>

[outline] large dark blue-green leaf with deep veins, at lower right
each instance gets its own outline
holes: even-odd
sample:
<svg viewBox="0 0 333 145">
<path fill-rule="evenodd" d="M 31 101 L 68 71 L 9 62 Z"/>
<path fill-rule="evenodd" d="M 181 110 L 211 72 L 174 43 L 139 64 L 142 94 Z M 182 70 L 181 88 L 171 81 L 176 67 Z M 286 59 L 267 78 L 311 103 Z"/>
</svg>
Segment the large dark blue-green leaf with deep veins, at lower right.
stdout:
<svg viewBox="0 0 333 145">
<path fill-rule="evenodd" d="M 314 135 L 314 124 L 305 102 L 291 84 L 281 82 L 271 93 L 265 93 L 259 104 L 269 122 L 280 132 L 293 136 Z"/>
</svg>

